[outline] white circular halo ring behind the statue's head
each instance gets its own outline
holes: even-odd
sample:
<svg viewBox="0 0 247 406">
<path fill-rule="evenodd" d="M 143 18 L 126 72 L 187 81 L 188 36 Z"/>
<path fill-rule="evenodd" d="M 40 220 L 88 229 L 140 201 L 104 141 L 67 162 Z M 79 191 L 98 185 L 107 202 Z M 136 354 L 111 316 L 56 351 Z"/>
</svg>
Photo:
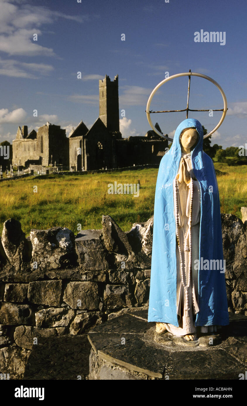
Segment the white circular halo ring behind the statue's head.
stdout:
<svg viewBox="0 0 247 406">
<path fill-rule="evenodd" d="M 148 122 L 151 126 L 151 128 L 156 132 L 156 134 L 160 135 L 162 138 L 165 138 L 168 141 L 173 141 L 173 138 L 169 138 L 164 136 L 164 134 L 162 134 L 160 131 L 158 131 L 150 118 L 150 113 L 149 113 L 149 108 L 150 108 L 150 104 L 151 101 L 153 99 L 153 96 L 155 95 L 155 93 L 157 92 L 157 90 L 160 88 L 160 86 L 162 86 L 162 84 L 168 82 L 171 79 L 175 79 L 175 78 L 179 78 L 180 76 L 199 76 L 200 78 L 204 78 L 209 80 L 210 82 L 212 82 L 213 84 L 215 84 L 215 86 L 219 89 L 219 91 L 221 92 L 221 95 L 223 97 L 223 102 L 224 102 L 224 110 L 221 116 L 221 119 L 219 121 L 219 123 L 214 127 L 214 129 L 212 131 L 210 131 L 208 134 L 203 136 L 203 139 L 208 138 L 210 135 L 212 135 L 219 127 L 220 125 L 223 123 L 223 120 L 225 118 L 226 112 L 227 112 L 227 99 L 225 97 L 225 93 L 223 92 L 223 89 L 221 88 L 221 86 L 219 85 L 219 83 L 217 83 L 214 79 L 210 78 L 209 76 L 203 75 L 202 73 L 197 73 L 197 72 L 184 72 L 184 73 L 177 73 L 176 75 L 173 76 L 169 76 L 169 78 L 166 78 L 164 80 L 162 80 L 159 84 L 157 84 L 157 86 L 155 86 L 155 88 L 153 89 L 151 95 L 149 96 L 148 102 L 146 104 L 146 117 L 148 119 Z"/>
</svg>

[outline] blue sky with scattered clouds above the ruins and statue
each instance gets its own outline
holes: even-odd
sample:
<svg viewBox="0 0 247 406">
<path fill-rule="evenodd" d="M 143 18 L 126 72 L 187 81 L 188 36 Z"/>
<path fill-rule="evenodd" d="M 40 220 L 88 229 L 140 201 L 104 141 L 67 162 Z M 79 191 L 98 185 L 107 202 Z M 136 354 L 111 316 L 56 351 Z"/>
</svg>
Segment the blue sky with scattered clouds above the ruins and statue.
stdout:
<svg viewBox="0 0 247 406">
<path fill-rule="evenodd" d="M 145 110 L 153 88 L 165 72 L 191 69 L 216 80 L 227 97 L 229 110 L 212 144 L 245 145 L 246 9 L 245 0 L 0 0 L 0 141 L 12 142 L 18 125 L 30 132 L 49 121 L 66 128 L 67 136 L 81 119 L 90 128 L 98 117 L 98 80 L 105 74 L 119 77 L 119 108 L 126 114 L 120 117 L 122 135 L 144 135 L 151 129 Z M 195 42 L 201 29 L 225 32 L 225 45 Z M 187 86 L 187 77 L 171 80 L 155 94 L 151 109 L 185 108 Z M 221 94 L 192 77 L 190 108 L 223 108 Z M 210 131 L 221 113 L 189 117 Z M 186 116 L 151 118 L 173 136 Z"/>
</svg>

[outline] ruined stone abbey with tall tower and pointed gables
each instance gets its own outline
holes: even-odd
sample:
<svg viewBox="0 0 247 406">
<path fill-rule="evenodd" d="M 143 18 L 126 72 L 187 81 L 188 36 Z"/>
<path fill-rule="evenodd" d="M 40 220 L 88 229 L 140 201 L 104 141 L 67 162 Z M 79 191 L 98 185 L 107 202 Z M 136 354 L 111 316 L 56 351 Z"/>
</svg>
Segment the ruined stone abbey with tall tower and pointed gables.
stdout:
<svg viewBox="0 0 247 406">
<path fill-rule="evenodd" d="M 160 130 L 156 123 L 155 127 Z M 160 130 L 161 131 L 161 130 Z M 13 140 L 13 165 L 62 165 L 63 169 L 88 171 L 159 164 L 168 141 L 153 130 L 145 136 L 122 138 L 119 131 L 118 75 L 99 80 L 99 117 L 90 130 L 81 121 L 66 137 L 66 130 L 50 123 L 28 134 L 18 127 Z"/>
</svg>

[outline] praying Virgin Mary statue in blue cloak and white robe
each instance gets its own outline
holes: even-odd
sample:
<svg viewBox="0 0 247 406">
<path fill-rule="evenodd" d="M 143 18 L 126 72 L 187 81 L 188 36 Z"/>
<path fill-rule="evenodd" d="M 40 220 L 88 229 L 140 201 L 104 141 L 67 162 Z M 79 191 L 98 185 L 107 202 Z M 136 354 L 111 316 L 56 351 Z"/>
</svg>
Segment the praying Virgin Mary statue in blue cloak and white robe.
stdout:
<svg viewBox="0 0 247 406">
<path fill-rule="evenodd" d="M 148 321 L 196 340 L 229 324 L 219 191 L 199 121 L 182 121 L 157 175 Z M 210 269 L 205 264 L 210 264 Z"/>
</svg>

